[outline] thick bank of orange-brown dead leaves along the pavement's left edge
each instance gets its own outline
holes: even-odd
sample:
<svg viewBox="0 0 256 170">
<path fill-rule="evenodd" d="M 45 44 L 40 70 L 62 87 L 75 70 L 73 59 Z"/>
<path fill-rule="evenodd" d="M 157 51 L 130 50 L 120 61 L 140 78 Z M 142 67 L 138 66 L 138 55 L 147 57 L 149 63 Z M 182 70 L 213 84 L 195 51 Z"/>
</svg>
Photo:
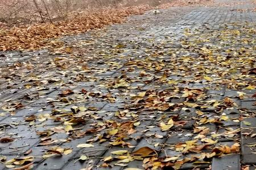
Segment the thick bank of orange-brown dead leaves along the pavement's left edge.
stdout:
<svg viewBox="0 0 256 170">
<path fill-rule="evenodd" d="M 79 17 L 68 22 L 22 25 L 10 29 L 2 28 L 0 29 L 0 50 L 38 49 L 60 45 L 60 42 L 49 39 L 102 28 L 111 23 L 120 23 L 127 16 L 142 14 L 143 11 L 149 9 L 148 6 L 106 8 L 100 11 L 82 12 Z"/>
</svg>

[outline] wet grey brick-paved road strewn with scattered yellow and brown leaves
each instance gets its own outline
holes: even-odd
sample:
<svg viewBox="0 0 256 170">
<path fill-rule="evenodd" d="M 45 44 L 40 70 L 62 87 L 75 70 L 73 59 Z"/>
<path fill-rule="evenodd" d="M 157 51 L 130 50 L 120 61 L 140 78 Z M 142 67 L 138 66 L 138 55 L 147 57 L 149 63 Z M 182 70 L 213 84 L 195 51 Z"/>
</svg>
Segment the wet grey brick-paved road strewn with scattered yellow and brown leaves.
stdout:
<svg viewBox="0 0 256 170">
<path fill-rule="evenodd" d="M 255 7 L 171 7 L 1 53 L 0 155 L 19 167 L 32 149 L 24 164 L 52 170 L 254 169 Z"/>
</svg>

